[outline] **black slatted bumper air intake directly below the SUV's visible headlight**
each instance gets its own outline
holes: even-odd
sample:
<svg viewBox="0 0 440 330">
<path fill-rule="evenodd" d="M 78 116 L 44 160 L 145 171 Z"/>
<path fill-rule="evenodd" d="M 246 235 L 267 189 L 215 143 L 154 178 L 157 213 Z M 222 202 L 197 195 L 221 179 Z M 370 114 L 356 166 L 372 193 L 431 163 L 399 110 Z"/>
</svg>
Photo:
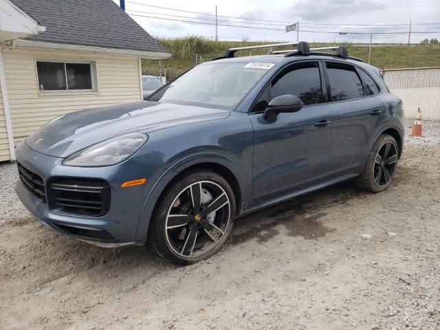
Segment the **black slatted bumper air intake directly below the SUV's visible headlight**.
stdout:
<svg viewBox="0 0 440 330">
<path fill-rule="evenodd" d="M 48 185 L 50 210 L 83 217 L 109 212 L 110 186 L 98 179 L 56 179 Z"/>
</svg>

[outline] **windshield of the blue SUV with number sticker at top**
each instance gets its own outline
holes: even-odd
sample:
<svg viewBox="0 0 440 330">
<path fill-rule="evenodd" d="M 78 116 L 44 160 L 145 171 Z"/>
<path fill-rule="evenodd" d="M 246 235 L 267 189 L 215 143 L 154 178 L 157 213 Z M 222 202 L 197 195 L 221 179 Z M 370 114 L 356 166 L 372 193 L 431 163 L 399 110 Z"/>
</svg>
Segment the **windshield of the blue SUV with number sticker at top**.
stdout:
<svg viewBox="0 0 440 330">
<path fill-rule="evenodd" d="M 158 91 L 150 100 L 232 110 L 272 66 L 272 63 L 199 65 Z"/>
</svg>

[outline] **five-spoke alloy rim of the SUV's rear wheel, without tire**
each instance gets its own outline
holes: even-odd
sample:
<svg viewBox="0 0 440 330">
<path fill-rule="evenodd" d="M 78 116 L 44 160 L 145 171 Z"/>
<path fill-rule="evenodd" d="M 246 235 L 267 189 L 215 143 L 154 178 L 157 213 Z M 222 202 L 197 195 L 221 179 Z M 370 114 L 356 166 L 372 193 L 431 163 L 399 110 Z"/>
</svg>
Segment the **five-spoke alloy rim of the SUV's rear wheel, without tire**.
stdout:
<svg viewBox="0 0 440 330">
<path fill-rule="evenodd" d="M 397 145 L 387 141 L 377 151 L 374 164 L 374 182 L 377 187 L 384 188 L 391 183 L 397 168 Z"/>
</svg>

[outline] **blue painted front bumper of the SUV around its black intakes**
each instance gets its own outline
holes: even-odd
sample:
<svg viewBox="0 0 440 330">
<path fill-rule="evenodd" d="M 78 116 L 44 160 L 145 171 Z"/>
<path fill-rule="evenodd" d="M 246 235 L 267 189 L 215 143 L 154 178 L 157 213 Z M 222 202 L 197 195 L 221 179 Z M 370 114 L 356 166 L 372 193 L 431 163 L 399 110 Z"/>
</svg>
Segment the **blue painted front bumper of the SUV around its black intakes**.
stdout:
<svg viewBox="0 0 440 330">
<path fill-rule="evenodd" d="M 109 212 L 102 217 L 83 217 L 54 212 L 50 210 L 47 203 L 43 203 L 32 194 L 19 179 L 16 188 L 17 195 L 36 219 L 58 232 L 100 246 L 142 244 L 146 241 L 146 233 L 137 233 L 137 227 L 151 187 L 145 184 L 121 188 L 121 179 L 124 179 L 121 173 L 133 175 L 133 170 L 127 168 L 130 164 L 126 162 L 102 168 L 80 168 L 63 166 L 62 161 L 62 158 L 38 153 L 25 143 L 17 148 L 17 162 L 41 176 L 47 193 L 50 193 L 47 190 L 47 181 L 53 177 L 95 178 L 109 182 L 111 189 Z M 126 179 L 137 179 L 137 177 L 127 176 Z M 105 232 L 106 235 L 97 235 L 98 238 L 96 238 L 93 235 L 85 235 L 84 233 L 87 232 Z M 102 239 L 102 236 L 105 238 Z"/>
</svg>

